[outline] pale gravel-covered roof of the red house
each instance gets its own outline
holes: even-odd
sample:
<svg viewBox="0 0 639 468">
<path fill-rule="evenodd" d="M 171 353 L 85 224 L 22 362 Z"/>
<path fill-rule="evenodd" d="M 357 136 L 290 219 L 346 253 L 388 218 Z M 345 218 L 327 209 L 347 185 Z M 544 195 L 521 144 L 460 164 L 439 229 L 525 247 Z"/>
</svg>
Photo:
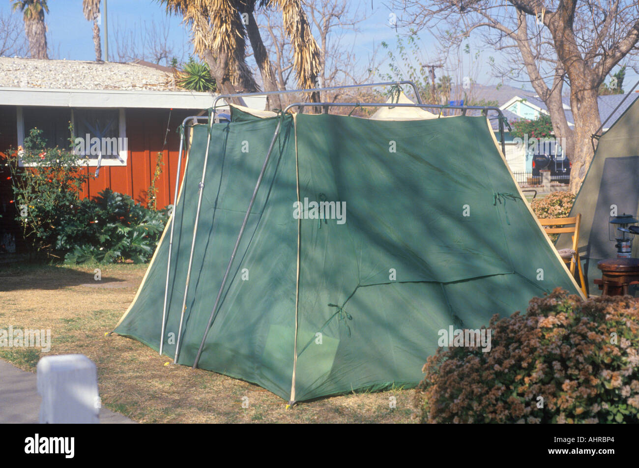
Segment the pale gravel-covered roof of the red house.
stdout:
<svg viewBox="0 0 639 468">
<path fill-rule="evenodd" d="M 164 68 L 164 67 L 162 67 Z M 0 87 L 174 91 L 173 74 L 137 63 L 0 57 Z"/>
</svg>

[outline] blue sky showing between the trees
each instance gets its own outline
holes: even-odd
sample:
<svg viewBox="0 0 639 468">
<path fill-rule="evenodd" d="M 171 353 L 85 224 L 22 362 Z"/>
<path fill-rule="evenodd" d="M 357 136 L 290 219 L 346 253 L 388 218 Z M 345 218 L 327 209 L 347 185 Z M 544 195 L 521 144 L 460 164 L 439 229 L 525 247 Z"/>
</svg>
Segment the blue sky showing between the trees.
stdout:
<svg viewBox="0 0 639 468">
<path fill-rule="evenodd" d="M 366 15 L 367 19 L 361 22 L 358 27 L 360 31 L 353 33 L 352 31 L 344 31 L 342 42 L 353 46 L 353 51 L 360 57 L 360 66 L 367 66 L 366 58 L 371 52 L 380 47 L 380 43 L 385 41 L 389 43 L 391 50 L 394 51 L 396 46 L 397 33 L 393 27 L 389 25 L 389 9 L 379 0 L 352 0 L 352 9 L 359 8 L 360 12 Z M 371 4 L 373 8 L 371 9 Z M 0 12 L 10 12 L 11 1 L 0 0 Z M 93 51 L 93 33 L 92 22 L 84 19 L 82 15 L 81 0 L 49 0 L 50 13 L 46 16 L 47 21 L 47 40 L 52 57 L 66 58 L 76 60 L 93 60 L 95 52 Z M 104 0 L 102 2 L 102 12 L 104 13 Z M 17 13 L 16 13 L 17 14 Z M 192 52 L 189 42 L 189 31 L 181 24 L 181 19 L 171 15 L 167 17 L 164 6 L 155 0 L 108 0 L 108 16 L 109 16 L 109 47 L 110 55 L 113 58 L 114 52 L 114 33 L 116 26 L 121 29 L 134 29 L 136 24 L 141 24 L 146 20 L 150 22 L 167 21 L 169 24 L 170 40 L 178 49 L 185 52 L 188 56 Z M 104 35 L 104 20 L 100 27 L 102 35 Z M 401 28 L 399 29 L 401 33 Z M 435 40 L 426 31 L 420 33 L 422 60 L 430 61 L 437 57 L 437 47 Z M 104 36 L 103 36 L 104 41 Z M 473 54 L 462 54 L 463 65 L 456 66 L 455 69 L 447 70 L 448 74 L 453 76 L 453 81 L 461 81 L 463 75 L 472 75 L 472 78 L 482 84 L 498 84 L 501 79 L 491 75 L 491 69 L 488 65 L 488 58 L 495 56 L 499 59 L 498 53 L 494 51 L 481 51 L 477 44 L 470 43 Z M 479 52 L 479 58 L 473 59 L 474 52 Z M 103 46 L 104 54 L 104 46 Z M 385 51 L 379 50 L 378 56 L 385 57 Z M 381 70 L 386 71 L 387 66 L 382 66 Z M 459 75 L 459 76 L 456 76 Z M 626 84 L 624 88 L 628 90 L 639 76 L 631 70 L 626 74 Z M 517 88 L 522 87 L 521 82 L 504 80 L 504 84 L 511 84 Z M 527 89 L 531 89 L 529 83 L 523 84 Z"/>
</svg>

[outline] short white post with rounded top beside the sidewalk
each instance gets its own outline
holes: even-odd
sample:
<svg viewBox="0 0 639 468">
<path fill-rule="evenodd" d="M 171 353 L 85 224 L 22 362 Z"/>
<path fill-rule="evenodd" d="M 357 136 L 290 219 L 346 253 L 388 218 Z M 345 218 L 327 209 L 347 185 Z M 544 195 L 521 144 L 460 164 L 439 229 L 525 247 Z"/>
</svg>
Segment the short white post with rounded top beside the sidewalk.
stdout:
<svg viewBox="0 0 639 468">
<path fill-rule="evenodd" d="M 38 362 L 40 424 L 98 424 L 98 371 L 82 354 L 47 356 Z"/>
</svg>

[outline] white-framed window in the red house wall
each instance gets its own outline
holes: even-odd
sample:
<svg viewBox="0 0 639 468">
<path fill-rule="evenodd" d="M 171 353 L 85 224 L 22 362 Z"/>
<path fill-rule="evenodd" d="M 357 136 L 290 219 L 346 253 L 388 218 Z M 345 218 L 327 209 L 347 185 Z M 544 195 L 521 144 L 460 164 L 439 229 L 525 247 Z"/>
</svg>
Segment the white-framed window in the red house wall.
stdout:
<svg viewBox="0 0 639 468">
<path fill-rule="evenodd" d="M 43 130 L 48 147 L 72 149 L 82 160 L 79 164 L 127 165 L 124 109 L 19 107 L 17 121 L 20 145 L 29 131 L 37 127 Z M 73 135 L 68 129 L 69 122 L 73 124 Z"/>
</svg>

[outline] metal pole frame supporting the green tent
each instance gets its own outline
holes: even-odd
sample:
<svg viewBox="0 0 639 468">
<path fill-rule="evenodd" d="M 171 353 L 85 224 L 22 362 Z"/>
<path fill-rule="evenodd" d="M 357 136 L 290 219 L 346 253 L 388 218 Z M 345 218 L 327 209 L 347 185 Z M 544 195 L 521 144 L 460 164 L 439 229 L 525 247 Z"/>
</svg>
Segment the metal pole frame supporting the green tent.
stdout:
<svg viewBox="0 0 639 468">
<path fill-rule="evenodd" d="M 196 246 L 196 237 L 197 237 L 197 225 L 199 224 L 199 214 L 200 214 L 200 210 L 201 210 L 201 205 L 202 205 L 202 197 L 203 197 L 203 188 L 204 188 L 204 182 L 205 182 L 205 176 L 206 176 L 206 166 L 208 163 L 208 152 L 209 152 L 209 148 L 210 148 L 210 142 L 211 142 L 211 129 L 213 126 L 213 123 L 215 122 L 215 114 L 217 111 L 217 103 L 219 102 L 220 99 L 224 99 L 224 98 L 232 98 L 232 97 L 248 97 L 248 96 L 262 96 L 262 95 L 275 95 L 275 94 L 288 94 L 288 93 L 313 93 L 313 92 L 317 92 L 317 91 L 331 91 L 331 90 L 343 90 L 343 89 L 354 89 L 354 88 L 372 88 L 372 87 L 380 87 L 380 86 L 401 86 L 402 84 L 408 84 L 410 86 L 412 86 L 413 90 L 415 91 L 415 95 L 417 96 L 417 100 L 418 103 L 417 104 L 400 104 L 400 103 L 394 103 L 394 104 L 389 104 L 387 102 L 376 102 L 376 103 L 359 103 L 359 102 L 295 102 L 293 104 L 289 104 L 286 109 L 284 109 L 282 111 L 282 114 L 286 114 L 288 113 L 288 111 L 290 111 L 293 108 L 298 108 L 298 109 L 304 109 L 304 107 L 323 107 L 324 109 L 326 109 L 326 111 L 328 112 L 328 109 L 330 107 L 417 107 L 420 109 L 440 109 L 440 115 L 438 118 L 440 118 L 442 116 L 442 112 L 444 109 L 456 109 L 456 110 L 460 110 L 462 115 L 466 114 L 466 111 L 469 110 L 477 110 L 477 111 L 482 111 L 482 114 L 484 116 L 486 116 L 486 118 L 488 118 L 488 112 L 489 111 L 495 111 L 498 114 L 498 119 L 499 119 L 499 132 L 500 132 L 500 141 L 501 141 L 501 145 L 502 145 L 502 153 L 504 153 L 505 155 L 505 143 L 504 143 L 504 122 L 507 123 L 507 121 L 504 118 L 504 114 L 502 113 L 501 109 L 499 109 L 498 107 L 495 106 L 473 106 L 473 105 L 436 105 L 436 104 L 423 104 L 421 101 L 421 98 L 419 97 L 419 92 L 417 91 L 417 86 L 415 85 L 414 82 L 412 81 L 395 81 L 395 82 L 379 82 L 379 83 L 370 83 L 370 84 L 362 84 L 362 85 L 348 85 L 348 86 L 332 86 L 330 88 L 312 88 L 312 89 L 307 89 L 307 90 L 285 90 L 285 91 L 268 91 L 268 92 L 258 92 L 258 93 L 236 93 L 236 94 L 229 94 L 229 95 L 220 95 L 218 97 L 215 98 L 215 100 L 213 101 L 213 107 L 212 107 L 212 113 L 209 116 L 189 116 L 187 118 L 185 118 L 185 120 L 183 120 L 182 122 L 182 131 L 181 133 L 181 138 L 180 138 L 180 152 L 179 152 L 179 159 L 178 159 L 178 170 L 177 170 L 177 175 L 176 175 L 176 181 L 175 181 L 175 191 L 174 191 L 174 203 L 173 203 L 173 214 L 172 214 L 172 219 L 170 219 L 169 221 L 171 221 L 171 234 L 170 234 L 170 238 L 169 238 L 169 255 L 168 255 L 168 260 L 167 260 L 167 275 L 166 275 L 166 286 L 165 286 L 165 290 L 164 290 L 164 308 L 162 311 L 162 336 L 160 338 L 160 355 L 162 354 L 162 350 L 164 347 L 164 332 L 165 332 L 165 327 L 166 327 L 166 315 L 167 315 L 167 297 L 168 297 L 168 290 L 169 290 L 169 276 L 171 274 L 171 252 L 173 249 L 173 233 L 174 233 L 174 222 L 173 219 L 175 219 L 175 215 L 176 215 L 176 208 L 177 208 L 177 199 L 178 199 L 178 185 L 180 183 L 180 168 L 181 168 L 181 159 L 182 159 L 182 152 L 183 152 L 183 148 L 185 146 L 185 132 L 183 131 L 183 129 L 185 128 L 185 126 L 187 125 L 187 121 L 189 120 L 193 120 L 194 121 L 194 125 L 197 125 L 197 120 L 199 119 L 206 119 L 208 120 L 208 138 L 206 141 L 206 153 L 204 155 L 204 164 L 203 164 L 203 168 L 202 168 L 202 176 L 201 176 L 201 181 L 198 184 L 198 190 L 199 190 L 199 196 L 198 196 L 198 200 L 197 200 L 197 210 L 196 210 L 196 219 L 194 221 L 194 230 L 193 230 L 193 238 L 192 238 L 192 242 L 191 242 L 191 249 L 190 249 L 190 256 L 189 256 L 189 266 L 187 269 L 187 279 L 185 281 L 185 291 L 184 291 L 184 296 L 183 296 L 183 301 L 182 301 L 182 309 L 181 309 L 181 313 L 180 313 L 180 328 L 178 329 L 178 340 L 176 342 L 176 351 L 175 351 L 175 357 L 173 360 L 173 363 L 176 364 L 178 362 L 178 357 L 180 355 L 180 342 L 181 342 L 181 336 L 182 336 L 182 329 L 183 329 L 183 321 L 184 321 L 184 315 L 185 315 L 185 311 L 186 311 L 186 302 L 187 302 L 187 294 L 189 292 L 189 282 L 190 282 L 190 274 L 191 274 L 191 269 L 192 269 L 192 265 L 193 265 L 193 254 L 194 254 L 194 250 L 195 250 L 195 246 Z M 193 368 L 196 369 L 197 368 L 197 364 L 199 363 L 199 359 L 201 357 L 203 348 L 204 348 L 204 343 L 206 341 L 206 337 L 208 336 L 208 332 L 210 331 L 211 325 L 213 323 L 213 319 L 215 318 L 215 314 L 217 313 L 217 308 L 219 306 L 219 302 L 220 302 L 220 298 L 222 297 L 222 292 L 224 291 L 224 286 L 226 286 L 226 280 L 229 276 L 229 272 L 231 270 L 231 267 L 233 265 L 233 260 L 235 260 L 235 255 L 237 253 L 238 247 L 240 246 L 240 242 L 242 240 L 242 235 L 244 233 L 244 229 L 246 227 L 246 224 L 248 222 L 249 219 L 249 215 L 250 215 L 250 211 L 252 210 L 253 207 L 253 203 L 256 199 L 256 196 L 258 194 L 258 190 L 259 187 L 261 185 L 263 176 L 266 172 L 266 166 L 268 165 L 268 161 L 270 160 L 271 154 L 273 152 L 273 146 L 275 145 L 275 141 L 277 140 L 277 137 L 279 136 L 279 132 L 281 130 L 281 125 L 282 125 L 282 119 L 280 119 L 277 123 L 277 127 L 275 127 L 275 132 L 273 133 L 273 137 L 271 140 L 271 143 L 269 145 L 268 148 L 268 152 L 266 153 L 266 157 L 264 160 L 264 163 L 262 165 L 261 171 L 259 173 L 258 176 L 258 180 L 256 182 L 252 197 L 250 199 L 249 202 L 249 207 L 247 208 L 247 212 L 244 216 L 243 222 L 242 222 L 242 226 L 240 227 L 240 232 L 238 233 L 238 237 L 236 239 L 235 242 L 235 246 L 233 247 L 233 253 L 231 254 L 231 258 L 229 259 L 229 263 L 227 265 L 226 268 L 226 272 L 224 273 L 224 277 L 222 278 L 222 284 L 220 285 L 220 289 L 217 293 L 217 297 L 215 298 L 215 304 L 213 305 L 213 309 L 211 311 L 211 315 L 209 317 L 208 323 L 206 325 L 206 329 L 204 330 L 204 336 L 202 338 L 201 344 L 197 350 L 197 355 L 196 355 L 196 359 L 194 361 L 193 364 Z M 295 343 L 296 346 L 296 343 Z M 295 356 L 294 356 L 294 363 L 295 363 L 295 358 L 296 358 L 296 349 L 295 349 Z M 294 383 L 295 383 L 295 364 L 294 364 L 294 370 L 293 370 L 293 387 L 294 387 Z M 293 398 L 293 396 L 291 396 L 291 398 Z"/>
</svg>

